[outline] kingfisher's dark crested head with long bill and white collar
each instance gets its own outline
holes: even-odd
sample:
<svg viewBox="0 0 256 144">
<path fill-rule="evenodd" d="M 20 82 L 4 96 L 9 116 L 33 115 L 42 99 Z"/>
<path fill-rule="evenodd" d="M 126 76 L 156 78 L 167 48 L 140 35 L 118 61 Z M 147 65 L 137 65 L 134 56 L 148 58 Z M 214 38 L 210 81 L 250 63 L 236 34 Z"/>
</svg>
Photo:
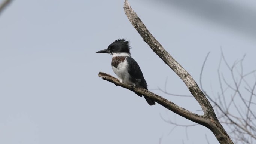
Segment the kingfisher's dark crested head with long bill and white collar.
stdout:
<svg viewBox="0 0 256 144">
<path fill-rule="evenodd" d="M 96 53 L 109 53 L 113 56 L 131 56 L 129 46 L 130 42 L 125 39 L 118 39 L 111 43 L 107 49 L 100 50 Z"/>
</svg>

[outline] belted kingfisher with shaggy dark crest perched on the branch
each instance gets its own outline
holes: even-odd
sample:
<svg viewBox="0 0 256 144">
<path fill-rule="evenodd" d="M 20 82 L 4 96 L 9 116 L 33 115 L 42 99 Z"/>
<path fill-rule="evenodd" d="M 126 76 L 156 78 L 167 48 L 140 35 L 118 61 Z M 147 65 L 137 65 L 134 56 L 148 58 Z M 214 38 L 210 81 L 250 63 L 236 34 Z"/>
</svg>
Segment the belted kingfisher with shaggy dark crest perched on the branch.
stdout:
<svg viewBox="0 0 256 144">
<path fill-rule="evenodd" d="M 96 53 L 109 53 L 112 55 L 112 69 L 118 76 L 121 83 L 126 83 L 131 86 L 138 86 L 147 89 L 147 82 L 143 77 L 138 63 L 131 57 L 129 41 L 118 39 L 111 43 L 107 49 L 100 50 Z M 136 92 L 135 92 L 136 93 Z M 141 94 L 136 93 L 142 97 Z M 144 97 L 149 105 L 156 104 L 150 98 Z"/>
</svg>

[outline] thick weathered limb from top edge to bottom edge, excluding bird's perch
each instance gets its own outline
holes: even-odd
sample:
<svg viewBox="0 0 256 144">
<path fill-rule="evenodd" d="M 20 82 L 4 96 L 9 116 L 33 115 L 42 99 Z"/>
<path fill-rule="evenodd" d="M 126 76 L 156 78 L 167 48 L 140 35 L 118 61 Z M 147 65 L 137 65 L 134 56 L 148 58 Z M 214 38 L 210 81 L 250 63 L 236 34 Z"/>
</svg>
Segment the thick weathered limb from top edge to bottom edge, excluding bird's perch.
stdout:
<svg viewBox="0 0 256 144">
<path fill-rule="evenodd" d="M 221 144 L 233 144 L 225 129 L 222 127 L 219 120 L 217 119 L 213 107 L 211 106 L 204 93 L 198 87 L 195 80 L 175 59 L 173 59 L 173 57 L 162 47 L 162 45 L 155 39 L 155 37 L 152 36 L 152 34 L 138 17 L 138 15 L 132 10 L 127 0 L 125 0 L 124 10 L 127 18 L 141 35 L 143 40 L 149 45 L 153 52 L 155 52 L 180 77 L 180 79 L 183 80 L 191 94 L 194 96 L 196 101 L 198 101 L 199 105 L 202 108 L 202 111 L 204 112 L 204 117 L 209 120 L 209 123 L 203 125 L 213 132 L 213 134 Z M 159 101 L 156 102 L 159 103 Z"/>
</svg>

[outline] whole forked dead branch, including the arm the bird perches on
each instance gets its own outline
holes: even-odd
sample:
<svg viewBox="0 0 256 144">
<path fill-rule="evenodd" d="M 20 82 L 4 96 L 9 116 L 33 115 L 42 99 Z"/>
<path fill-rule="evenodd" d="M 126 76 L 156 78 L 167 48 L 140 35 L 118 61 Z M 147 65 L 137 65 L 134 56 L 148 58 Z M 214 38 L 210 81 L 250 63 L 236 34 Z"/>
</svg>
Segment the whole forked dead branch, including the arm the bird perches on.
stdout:
<svg viewBox="0 0 256 144">
<path fill-rule="evenodd" d="M 204 93 L 201 91 L 201 89 L 198 87 L 197 83 L 191 77 L 191 75 L 162 47 L 162 45 L 155 39 L 155 37 L 153 37 L 153 35 L 149 32 L 149 30 L 140 20 L 138 15 L 132 10 L 127 0 L 125 0 L 124 10 L 131 24 L 141 35 L 143 40 L 153 50 L 153 52 L 155 52 L 180 77 L 180 79 L 183 80 L 191 94 L 194 96 L 196 101 L 198 101 L 199 105 L 202 108 L 202 111 L 204 112 L 204 115 L 200 116 L 198 114 L 192 113 L 191 111 L 179 107 L 178 105 L 175 105 L 173 102 L 170 102 L 167 99 L 162 98 L 161 96 L 158 96 L 150 91 L 147 91 L 146 89 L 133 89 L 131 88 L 131 86 L 126 85 L 124 83 L 120 83 L 118 79 L 106 73 L 100 72 L 99 76 L 102 77 L 104 80 L 114 83 L 117 86 L 122 86 L 123 88 L 127 88 L 131 91 L 137 92 L 139 94 L 142 94 L 143 96 L 153 99 L 158 104 L 164 106 L 165 108 L 173 111 L 176 114 L 179 114 L 182 117 L 185 117 L 186 119 L 189 119 L 200 125 L 206 126 L 213 132 L 213 134 L 215 135 L 220 144 L 233 144 L 225 129 L 222 127 L 219 120 L 217 119 L 210 102 L 208 101 Z"/>
</svg>

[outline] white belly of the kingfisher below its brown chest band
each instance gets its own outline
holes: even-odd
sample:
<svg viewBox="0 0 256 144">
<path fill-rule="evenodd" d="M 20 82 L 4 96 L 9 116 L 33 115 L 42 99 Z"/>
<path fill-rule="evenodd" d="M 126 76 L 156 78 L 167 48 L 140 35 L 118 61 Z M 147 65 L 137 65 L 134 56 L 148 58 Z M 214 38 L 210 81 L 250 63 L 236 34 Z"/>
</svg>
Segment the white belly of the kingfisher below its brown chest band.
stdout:
<svg viewBox="0 0 256 144">
<path fill-rule="evenodd" d="M 121 62 L 120 64 L 118 64 L 117 68 L 112 66 L 112 69 L 114 73 L 118 76 L 119 81 L 121 83 L 134 85 L 134 83 L 130 81 L 130 74 L 128 73 L 127 67 L 128 67 L 128 63 L 125 60 L 124 62 Z"/>
</svg>

